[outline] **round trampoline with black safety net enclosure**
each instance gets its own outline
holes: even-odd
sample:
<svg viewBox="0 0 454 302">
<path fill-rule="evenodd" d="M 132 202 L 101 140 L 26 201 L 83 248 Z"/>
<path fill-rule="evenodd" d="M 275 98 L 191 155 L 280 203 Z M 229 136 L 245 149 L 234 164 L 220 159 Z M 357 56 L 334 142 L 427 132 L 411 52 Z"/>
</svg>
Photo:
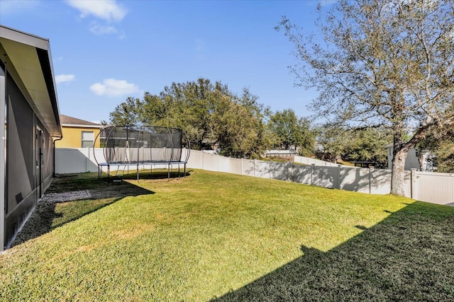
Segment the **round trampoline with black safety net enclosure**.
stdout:
<svg viewBox="0 0 454 302">
<path fill-rule="evenodd" d="M 167 165 L 168 178 L 170 179 L 171 165 L 184 165 L 189 158 L 189 140 L 182 129 L 157 126 L 113 126 L 101 129 L 95 141 L 99 139 L 103 149 L 103 161 L 98 161 L 96 153 L 94 159 L 98 164 L 98 178 L 101 179 L 103 168 L 107 168 L 108 179 L 111 176 L 111 167 L 116 167 L 116 175 L 123 168 L 129 171 L 130 166 L 137 168 L 139 180 L 139 165 Z M 187 153 L 182 158 L 184 142 L 187 144 Z M 104 161 L 105 160 L 105 161 Z"/>
</svg>

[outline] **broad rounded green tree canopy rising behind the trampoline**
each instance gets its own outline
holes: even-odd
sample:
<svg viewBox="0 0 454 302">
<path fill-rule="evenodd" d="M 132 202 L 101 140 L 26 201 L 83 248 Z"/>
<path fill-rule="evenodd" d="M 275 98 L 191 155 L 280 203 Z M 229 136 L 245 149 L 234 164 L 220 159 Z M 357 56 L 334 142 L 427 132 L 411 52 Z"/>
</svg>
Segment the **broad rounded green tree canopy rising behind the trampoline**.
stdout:
<svg viewBox="0 0 454 302">
<path fill-rule="evenodd" d="M 247 88 L 231 93 L 221 82 L 197 79 L 172 83 L 159 95 L 128 98 L 111 112 L 112 124 L 177 127 L 194 149 L 220 150 L 225 156 L 258 158 L 272 141 L 267 108 Z"/>
</svg>

